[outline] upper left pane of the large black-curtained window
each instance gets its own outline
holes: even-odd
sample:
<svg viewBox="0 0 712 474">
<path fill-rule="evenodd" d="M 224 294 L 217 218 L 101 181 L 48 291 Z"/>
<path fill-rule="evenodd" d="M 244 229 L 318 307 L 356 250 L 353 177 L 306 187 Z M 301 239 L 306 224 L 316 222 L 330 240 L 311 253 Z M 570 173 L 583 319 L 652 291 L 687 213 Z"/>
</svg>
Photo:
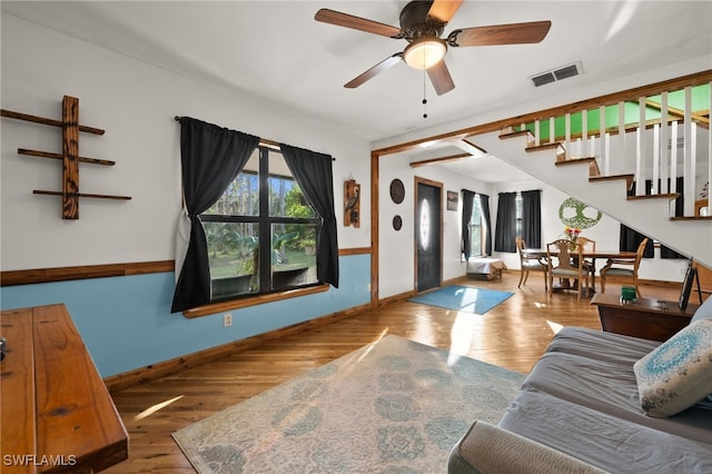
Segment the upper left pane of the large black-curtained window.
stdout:
<svg viewBox="0 0 712 474">
<path fill-rule="evenodd" d="M 259 152 L 255 150 L 245 168 L 222 196 L 205 214 L 221 216 L 259 215 Z"/>
</svg>

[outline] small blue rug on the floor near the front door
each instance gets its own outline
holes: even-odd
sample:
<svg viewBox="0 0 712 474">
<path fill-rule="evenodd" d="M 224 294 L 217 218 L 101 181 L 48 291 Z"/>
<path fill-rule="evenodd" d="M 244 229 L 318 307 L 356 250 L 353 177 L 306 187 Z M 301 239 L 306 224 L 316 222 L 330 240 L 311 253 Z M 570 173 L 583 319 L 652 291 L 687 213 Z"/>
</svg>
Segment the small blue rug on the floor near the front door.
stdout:
<svg viewBox="0 0 712 474">
<path fill-rule="evenodd" d="M 514 295 L 514 293 L 475 288 L 472 286 L 448 285 L 434 292 L 415 296 L 408 299 L 408 302 L 484 315 L 512 295 Z"/>
</svg>

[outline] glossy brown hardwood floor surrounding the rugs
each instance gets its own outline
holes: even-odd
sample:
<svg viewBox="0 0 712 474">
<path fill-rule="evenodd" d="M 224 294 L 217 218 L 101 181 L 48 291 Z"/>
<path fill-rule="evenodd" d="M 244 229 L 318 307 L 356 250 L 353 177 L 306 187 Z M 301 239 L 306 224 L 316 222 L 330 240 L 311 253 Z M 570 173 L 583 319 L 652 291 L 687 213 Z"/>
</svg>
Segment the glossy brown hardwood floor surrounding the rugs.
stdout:
<svg viewBox="0 0 712 474">
<path fill-rule="evenodd" d="M 483 316 L 409 302 L 387 305 L 298 335 L 112 394 L 129 432 L 129 458 L 107 473 L 192 473 L 170 434 L 243 402 L 386 334 L 452 349 L 479 361 L 527 373 L 561 326 L 600 329 L 597 310 L 576 294 L 544 292 L 532 274 L 517 288 L 518 271 L 501 280 L 463 278 L 457 284 L 511 290 L 514 296 Z M 620 293 L 620 285 L 606 285 Z M 673 286 L 642 287 L 643 296 L 676 300 Z"/>
</svg>

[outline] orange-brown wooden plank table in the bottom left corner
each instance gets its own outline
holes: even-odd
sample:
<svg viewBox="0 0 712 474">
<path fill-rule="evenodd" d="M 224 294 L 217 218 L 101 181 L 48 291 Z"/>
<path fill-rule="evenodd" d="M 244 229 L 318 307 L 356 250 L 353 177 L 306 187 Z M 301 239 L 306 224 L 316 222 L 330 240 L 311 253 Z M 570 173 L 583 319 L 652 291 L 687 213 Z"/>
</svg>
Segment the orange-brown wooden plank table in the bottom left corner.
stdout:
<svg viewBox="0 0 712 474">
<path fill-rule="evenodd" d="M 0 314 L 2 473 L 92 473 L 128 457 L 128 434 L 65 305 Z"/>
</svg>

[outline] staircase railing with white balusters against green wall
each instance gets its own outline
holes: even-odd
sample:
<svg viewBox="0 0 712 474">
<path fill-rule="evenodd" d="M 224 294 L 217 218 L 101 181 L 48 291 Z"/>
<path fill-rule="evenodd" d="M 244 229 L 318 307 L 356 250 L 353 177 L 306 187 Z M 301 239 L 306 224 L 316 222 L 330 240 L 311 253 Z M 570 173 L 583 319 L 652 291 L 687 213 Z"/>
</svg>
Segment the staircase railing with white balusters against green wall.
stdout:
<svg viewBox="0 0 712 474">
<path fill-rule="evenodd" d="M 695 77 L 696 79 L 701 76 Z M 646 195 L 680 195 L 683 196 L 684 217 L 695 214 L 698 188 L 702 182 L 698 179 L 698 162 L 704 162 L 704 144 L 700 144 L 701 134 L 698 128 L 708 130 L 706 167 L 710 170 L 708 182 L 712 180 L 712 137 L 709 134 L 709 115 L 712 109 L 712 79 L 708 82 L 681 86 L 679 81 L 671 82 L 671 87 L 681 89 L 660 90 L 650 89 L 647 96 L 624 96 L 623 92 L 611 95 L 606 100 L 587 101 L 589 106 L 600 103 L 597 110 L 577 109 L 568 106 L 558 110 L 566 110 L 563 116 L 551 113 L 546 119 L 537 118 L 531 122 L 518 125 L 510 122 L 502 129 L 505 132 L 531 134 L 532 146 L 561 145 L 557 161 L 581 158 L 596 161 L 595 169 L 603 170 L 601 176 L 621 175 L 631 171 L 634 162 L 634 180 L 650 182 L 649 186 L 636 186 L 635 196 Z M 693 109 L 693 87 L 696 92 L 696 106 Z M 639 88 L 635 91 L 640 92 Z M 656 100 L 651 99 L 652 97 Z M 657 96 L 660 99 L 657 100 Z M 619 99 L 616 103 L 612 100 Z M 674 99 L 674 100 L 671 100 Z M 673 107 L 671 102 L 682 102 L 681 107 Z M 589 119 L 599 124 L 589 125 Z M 610 120 L 606 115 L 613 113 Z M 635 113 L 636 119 L 631 115 Z M 653 117 L 650 117 L 650 116 Z M 659 115 L 659 117 L 657 117 Z M 616 117 L 617 116 L 617 117 Z M 575 129 L 573 125 L 576 119 Z M 614 125 L 611 126 L 611 122 Z M 563 127 L 563 131 L 562 131 Z M 634 134 L 634 136 L 633 136 Z M 681 140 L 681 141 L 680 141 Z M 682 145 L 682 156 L 679 148 Z M 698 152 L 698 150 L 700 152 Z M 682 164 L 680 164 L 682 158 Z M 678 189 L 676 178 L 683 178 L 683 189 Z M 712 198 L 708 196 L 708 204 Z M 671 217 L 676 216 L 674 207 L 670 208 Z"/>
</svg>

